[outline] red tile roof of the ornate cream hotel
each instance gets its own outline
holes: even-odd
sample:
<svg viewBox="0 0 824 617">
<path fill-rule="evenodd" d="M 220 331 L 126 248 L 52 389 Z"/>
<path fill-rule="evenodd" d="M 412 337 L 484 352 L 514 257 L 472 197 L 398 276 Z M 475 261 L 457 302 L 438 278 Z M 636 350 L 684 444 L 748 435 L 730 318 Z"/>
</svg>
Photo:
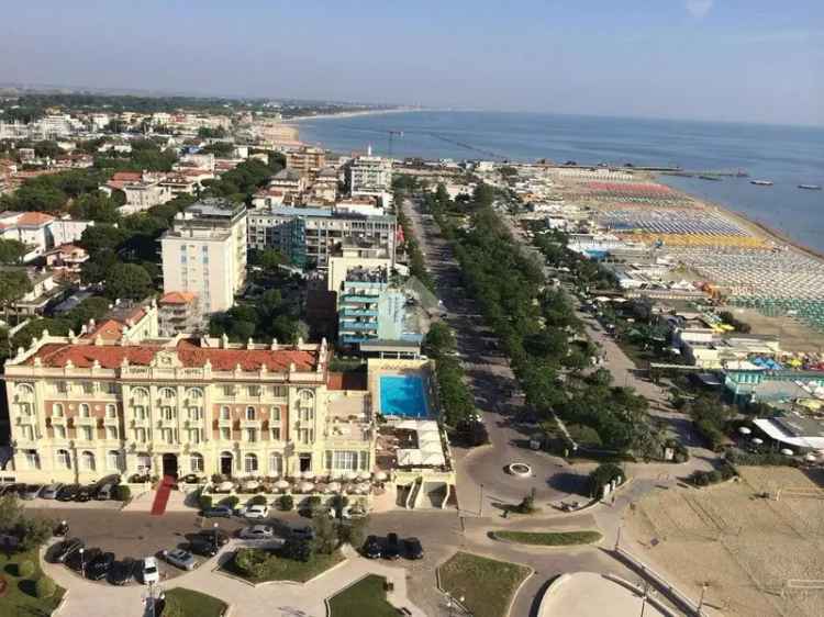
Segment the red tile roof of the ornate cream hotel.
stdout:
<svg viewBox="0 0 824 617">
<path fill-rule="evenodd" d="M 149 366 L 159 351 L 170 351 L 160 345 L 93 345 L 90 343 L 71 345 L 68 343 L 49 343 L 29 358 L 25 363 L 33 364 L 40 358 L 44 367 L 62 368 L 71 361 L 75 367 L 90 368 L 94 360 L 104 369 L 120 367 L 123 359 L 133 366 Z M 311 371 L 318 366 L 318 351 L 297 349 L 215 349 L 200 347 L 196 340 L 180 340 L 176 348 L 177 357 L 183 367 L 203 367 L 209 360 L 212 369 L 233 371 L 237 364 L 244 371 L 257 371 L 266 367 L 269 371 L 283 371 L 294 362 L 297 370 Z"/>
</svg>

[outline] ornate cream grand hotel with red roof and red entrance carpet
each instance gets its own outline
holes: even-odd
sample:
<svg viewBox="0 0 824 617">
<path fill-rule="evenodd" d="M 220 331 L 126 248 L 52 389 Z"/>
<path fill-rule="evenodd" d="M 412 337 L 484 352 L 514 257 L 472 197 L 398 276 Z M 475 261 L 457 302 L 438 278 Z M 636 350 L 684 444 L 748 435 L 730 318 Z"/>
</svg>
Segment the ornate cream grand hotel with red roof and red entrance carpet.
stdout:
<svg viewBox="0 0 824 617">
<path fill-rule="evenodd" d="M 5 363 L 19 482 L 112 473 L 293 476 L 370 471 L 366 399 L 327 393 L 320 345 L 45 334 Z"/>
</svg>

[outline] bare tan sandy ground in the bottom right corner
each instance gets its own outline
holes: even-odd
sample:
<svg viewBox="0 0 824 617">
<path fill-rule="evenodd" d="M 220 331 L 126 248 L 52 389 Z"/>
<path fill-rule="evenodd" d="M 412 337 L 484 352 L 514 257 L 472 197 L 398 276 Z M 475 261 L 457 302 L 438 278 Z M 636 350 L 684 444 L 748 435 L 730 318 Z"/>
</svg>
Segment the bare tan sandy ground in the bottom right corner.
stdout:
<svg viewBox="0 0 824 617">
<path fill-rule="evenodd" d="M 625 517 L 627 549 L 694 598 L 733 616 L 824 615 L 824 492 L 792 468 L 741 468 L 742 481 L 650 493 Z M 782 492 L 780 501 L 757 496 Z M 793 494 L 788 489 L 797 489 Z"/>
</svg>

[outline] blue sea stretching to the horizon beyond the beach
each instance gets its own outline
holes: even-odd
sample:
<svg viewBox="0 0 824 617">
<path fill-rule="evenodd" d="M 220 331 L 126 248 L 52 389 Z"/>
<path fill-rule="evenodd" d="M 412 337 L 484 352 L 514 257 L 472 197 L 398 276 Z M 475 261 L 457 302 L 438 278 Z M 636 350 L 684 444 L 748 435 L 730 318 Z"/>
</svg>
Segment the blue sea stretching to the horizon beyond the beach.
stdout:
<svg viewBox="0 0 824 617">
<path fill-rule="evenodd" d="M 824 127 L 538 113 L 414 111 L 298 123 L 301 141 L 335 153 L 426 159 L 500 159 L 582 165 L 678 166 L 749 178 L 660 181 L 824 251 Z M 750 180 L 770 180 L 757 187 Z"/>
</svg>

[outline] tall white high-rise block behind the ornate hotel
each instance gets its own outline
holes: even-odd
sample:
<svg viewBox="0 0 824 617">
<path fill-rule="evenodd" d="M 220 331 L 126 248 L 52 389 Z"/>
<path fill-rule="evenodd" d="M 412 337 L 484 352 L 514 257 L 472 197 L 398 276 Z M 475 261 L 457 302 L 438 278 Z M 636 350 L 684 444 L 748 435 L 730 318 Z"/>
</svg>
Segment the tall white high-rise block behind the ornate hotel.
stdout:
<svg viewBox="0 0 824 617">
<path fill-rule="evenodd" d="M 246 279 L 246 206 L 207 199 L 160 238 L 164 292 L 192 292 L 203 313 L 226 311 Z"/>
</svg>

